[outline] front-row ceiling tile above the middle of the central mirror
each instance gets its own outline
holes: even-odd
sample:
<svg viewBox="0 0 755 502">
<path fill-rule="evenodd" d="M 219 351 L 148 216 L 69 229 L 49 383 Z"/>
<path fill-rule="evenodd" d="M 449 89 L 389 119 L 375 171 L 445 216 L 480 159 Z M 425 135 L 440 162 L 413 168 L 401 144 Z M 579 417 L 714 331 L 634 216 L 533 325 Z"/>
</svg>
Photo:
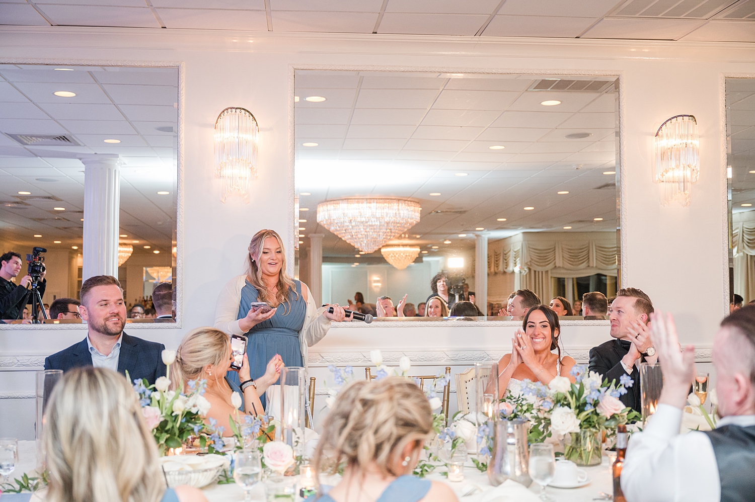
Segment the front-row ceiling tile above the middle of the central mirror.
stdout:
<svg viewBox="0 0 755 502">
<path fill-rule="evenodd" d="M 487 14 L 396 14 L 386 12 L 377 32 L 471 36 L 487 19 Z"/>
</svg>

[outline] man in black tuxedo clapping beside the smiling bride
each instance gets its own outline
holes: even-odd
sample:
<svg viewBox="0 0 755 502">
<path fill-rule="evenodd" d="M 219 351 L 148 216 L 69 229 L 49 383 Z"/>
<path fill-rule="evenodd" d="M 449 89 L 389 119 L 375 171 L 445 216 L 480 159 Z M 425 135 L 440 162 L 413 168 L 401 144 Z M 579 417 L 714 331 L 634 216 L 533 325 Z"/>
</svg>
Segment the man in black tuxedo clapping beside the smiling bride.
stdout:
<svg viewBox="0 0 755 502">
<path fill-rule="evenodd" d="M 634 384 L 621 396 L 624 405 L 642 412 L 639 392 L 639 363 L 657 362 L 655 347 L 650 340 L 649 316 L 653 312 L 650 297 L 636 288 L 620 289 L 611 304 L 611 336 L 607 341 L 590 349 L 590 371 L 597 371 L 609 380 L 619 383 L 621 375 L 628 374 Z"/>
</svg>

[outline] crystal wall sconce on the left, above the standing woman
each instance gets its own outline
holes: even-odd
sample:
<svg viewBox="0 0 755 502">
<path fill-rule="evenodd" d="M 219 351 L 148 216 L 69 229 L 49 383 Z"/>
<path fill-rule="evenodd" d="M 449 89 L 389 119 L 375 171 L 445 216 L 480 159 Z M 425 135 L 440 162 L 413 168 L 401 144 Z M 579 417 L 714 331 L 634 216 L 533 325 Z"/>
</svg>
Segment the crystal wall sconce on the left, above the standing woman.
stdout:
<svg viewBox="0 0 755 502">
<path fill-rule="evenodd" d="M 242 196 L 249 202 L 249 183 L 257 179 L 257 119 L 248 109 L 230 106 L 215 121 L 215 177 L 223 180 L 221 202 Z"/>
</svg>

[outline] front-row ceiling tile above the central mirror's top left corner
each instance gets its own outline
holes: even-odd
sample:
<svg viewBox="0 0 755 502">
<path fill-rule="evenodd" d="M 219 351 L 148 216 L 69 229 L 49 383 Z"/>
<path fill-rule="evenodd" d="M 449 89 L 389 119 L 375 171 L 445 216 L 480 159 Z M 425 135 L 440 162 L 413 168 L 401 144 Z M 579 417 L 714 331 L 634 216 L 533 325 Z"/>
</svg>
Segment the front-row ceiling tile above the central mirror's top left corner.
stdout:
<svg viewBox="0 0 755 502">
<path fill-rule="evenodd" d="M 377 12 L 274 11 L 273 31 L 371 33 Z"/>
</svg>

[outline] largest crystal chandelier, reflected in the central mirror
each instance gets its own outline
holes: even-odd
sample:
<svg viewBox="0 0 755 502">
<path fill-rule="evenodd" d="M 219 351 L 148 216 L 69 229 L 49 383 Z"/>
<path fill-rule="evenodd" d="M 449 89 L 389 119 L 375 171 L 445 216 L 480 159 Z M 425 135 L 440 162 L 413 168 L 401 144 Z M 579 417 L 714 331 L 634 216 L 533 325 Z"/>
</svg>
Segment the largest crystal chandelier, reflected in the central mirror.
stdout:
<svg viewBox="0 0 755 502">
<path fill-rule="evenodd" d="M 419 223 L 418 202 L 387 197 L 334 199 L 317 205 L 317 223 L 371 253 Z"/>
</svg>

